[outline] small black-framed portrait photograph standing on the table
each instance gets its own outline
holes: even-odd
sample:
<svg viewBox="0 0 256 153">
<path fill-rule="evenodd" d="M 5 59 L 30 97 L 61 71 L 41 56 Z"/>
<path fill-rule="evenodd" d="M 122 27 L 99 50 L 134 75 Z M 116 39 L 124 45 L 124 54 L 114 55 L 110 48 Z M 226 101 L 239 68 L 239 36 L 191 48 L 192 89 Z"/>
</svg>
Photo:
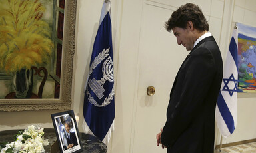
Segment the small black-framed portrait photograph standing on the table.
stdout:
<svg viewBox="0 0 256 153">
<path fill-rule="evenodd" d="M 79 138 L 77 122 L 73 110 L 51 114 L 55 128 L 59 150 L 65 152 L 81 152 L 83 146 Z"/>
</svg>

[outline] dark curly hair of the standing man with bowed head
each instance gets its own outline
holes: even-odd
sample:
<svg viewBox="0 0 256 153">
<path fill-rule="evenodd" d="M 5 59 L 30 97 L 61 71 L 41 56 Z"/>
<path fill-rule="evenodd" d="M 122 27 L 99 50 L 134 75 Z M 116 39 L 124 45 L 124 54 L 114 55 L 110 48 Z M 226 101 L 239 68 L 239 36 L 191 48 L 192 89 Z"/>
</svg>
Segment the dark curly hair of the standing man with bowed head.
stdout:
<svg viewBox="0 0 256 153">
<path fill-rule="evenodd" d="M 171 29 L 174 27 L 185 29 L 187 27 L 187 21 L 191 21 L 195 29 L 199 31 L 209 31 L 209 24 L 202 10 L 192 3 L 181 5 L 179 9 L 174 11 L 170 19 L 165 22 L 165 29 L 169 32 L 171 32 Z"/>
</svg>

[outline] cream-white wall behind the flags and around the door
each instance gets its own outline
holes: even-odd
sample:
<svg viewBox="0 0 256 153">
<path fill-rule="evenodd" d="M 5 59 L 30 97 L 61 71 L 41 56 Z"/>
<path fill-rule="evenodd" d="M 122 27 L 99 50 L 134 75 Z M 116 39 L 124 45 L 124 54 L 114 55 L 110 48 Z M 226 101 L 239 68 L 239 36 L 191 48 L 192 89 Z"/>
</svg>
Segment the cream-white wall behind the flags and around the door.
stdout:
<svg viewBox="0 0 256 153">
<path fill-rule="evenodd" d="M 143 5 L 146 0 L 111 0 L 112 31 L 115 65 L 115 132 L 108 152 L 132 152 L 135 133 L 139 82 L 139 40 Z M 209 1 L 211 3 L 209 3 Z M 209 20 L 209 31 L 220 46 L 223 59 L 227 53 L 232 24 L 235 21 L 256 27 L 254 0 L 155 0 L 159 5 L 179 7 L 192 2 L 203 9 Z M 97 33 L 103 0 L 78 0 L 76 21 L 76 51 L 73 66 L 73 110 L 83 116 L 83 88 L 88 75 L 93 41 Z M 170 14 L 171 15 L 171 14 Z M 181 47 L 181 51 L 184 49 Z M 177 51 L 179 53 L 179 51 Z M 183 61 L 183 58 L 177 59 Z M 175 72 L 176 73 L 176 72 Z M 171 86 L 170 86 L 171 88 Z M 169 92 L 169 91 L 167 91 Z M 237 129 L 223 144 L 256 138 L 255 94 L 239 94 L 237 100 Z M 51 117 L 57 111 L 0 112 L 0 130 L 26 128 L 27 124 L 41 124 L 53 128 Z M 139 112 L 137 112 L 139 113 Z M 32 116 L 32 117 L 31 117 Z M 163 116 L 165 117 L 165 116 Z M 141 121 L 143 122 L 143 121 Z M 154 123 L 152 123 L 154 124 Z M 81 126 L 79 126 L 81 130 Z M 147 130 L 147 129 L 145 129 Z M 216 129 L 216 144 L 220 136 Z M 143 147 L 143 146 L 142 146 Z"/>
</svg>

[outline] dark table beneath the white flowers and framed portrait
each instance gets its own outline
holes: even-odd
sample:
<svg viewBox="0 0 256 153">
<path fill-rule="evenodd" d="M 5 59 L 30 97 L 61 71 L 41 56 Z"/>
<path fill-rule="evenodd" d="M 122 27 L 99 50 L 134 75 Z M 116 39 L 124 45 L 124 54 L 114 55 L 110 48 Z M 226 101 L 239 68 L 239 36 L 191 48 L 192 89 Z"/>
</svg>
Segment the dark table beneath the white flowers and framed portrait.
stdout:
<svg viewBox="0 0 256 153">
<path fill-rule="evenodd" d="M 15 134 L 18 134 L 19 130 L 5 130 L 0 131 L 0 143 L 13 142 Z M 49 145 L 44 146 L 45 152 L 51 152 L 51 144 L 57 140 L 56 133 L 53 128 L 45 128 L 45 139 L 49 140 Z M 83 146 L 83 152 L 107 152 L 107 146 L 95 136 L 91 136 L 85 133 L 79 133 L 81 138 L 81 144 Z"/>
</svg>

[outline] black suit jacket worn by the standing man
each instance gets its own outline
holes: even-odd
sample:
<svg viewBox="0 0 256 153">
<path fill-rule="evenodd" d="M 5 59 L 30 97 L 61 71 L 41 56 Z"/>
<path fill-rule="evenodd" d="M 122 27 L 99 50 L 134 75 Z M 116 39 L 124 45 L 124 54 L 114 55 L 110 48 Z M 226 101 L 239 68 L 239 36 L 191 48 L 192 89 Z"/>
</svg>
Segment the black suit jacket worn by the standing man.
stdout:
<svg viewBox="0 0 256 153">
<path fill-rule="evenodd" d="M 189 53 L 171 89 L 161 142 L 171 153 L 213 153 L 215 106 L 223 62 L 215 39 L 206 37 Z"/>
</svg>

